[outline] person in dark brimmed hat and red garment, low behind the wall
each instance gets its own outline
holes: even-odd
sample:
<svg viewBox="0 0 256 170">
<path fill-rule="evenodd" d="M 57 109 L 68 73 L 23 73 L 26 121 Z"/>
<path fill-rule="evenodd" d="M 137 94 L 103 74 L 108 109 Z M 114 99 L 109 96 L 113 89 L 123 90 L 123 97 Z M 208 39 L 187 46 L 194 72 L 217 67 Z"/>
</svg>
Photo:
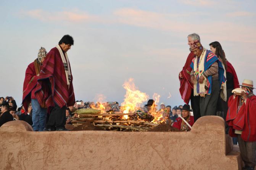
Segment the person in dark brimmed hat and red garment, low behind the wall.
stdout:
<svg viewBox="0 0 256 170">
<path fill-rule="evenodd" d="M 190 115 L 190 111 L 192 111 L 190 110 L 190 105 L 185 104 L 182 108 L 182 118 L 184 118 L 192 127 L 194 124 L 194 117 Z M 172 127 L 177 128 L 180 131 L 190 131 L 190 127 L 182 120 L 182 118 L 177 118 Z"/>
</svg>

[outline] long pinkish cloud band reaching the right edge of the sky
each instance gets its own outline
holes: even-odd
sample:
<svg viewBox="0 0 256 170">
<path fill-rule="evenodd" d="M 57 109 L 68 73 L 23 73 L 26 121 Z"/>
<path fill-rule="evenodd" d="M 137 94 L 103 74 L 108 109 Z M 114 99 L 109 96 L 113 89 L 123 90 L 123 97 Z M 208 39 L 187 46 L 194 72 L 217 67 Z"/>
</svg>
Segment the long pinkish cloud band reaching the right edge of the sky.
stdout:
<svg viewBox="0 0 256 170">
<path fill-rule="evenodd" d="M 177 14 L 161 14 L 151 11 L 143 11 L 132 8 L 121 8 L 114 11 L 118 22 L 137 27 L 171 31 L 177 33 L 198 32 L 208 36 L 209 39 L 219 41 L 235 41 L 255 43 L 255 27 L 236 24 L 233 22 L 190 22 L 190 17 L 180 19 Z M 180 13 L 181 16 L 189 16 L 190 13 Z M 193 15 L 194 20 L 200 20 L 201 13 Z M 225 19 L 224 19 L 225 21 Z"/>
</svg>

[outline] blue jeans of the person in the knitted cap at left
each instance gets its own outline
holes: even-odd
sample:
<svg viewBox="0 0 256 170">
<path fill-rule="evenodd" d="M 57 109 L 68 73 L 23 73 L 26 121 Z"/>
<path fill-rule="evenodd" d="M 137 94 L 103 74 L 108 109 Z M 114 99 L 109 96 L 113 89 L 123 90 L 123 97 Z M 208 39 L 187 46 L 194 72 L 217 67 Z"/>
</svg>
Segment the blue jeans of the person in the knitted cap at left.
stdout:
<svg viewBox="0 0 256 170">
<path fill-rule="evenodd" d="M 46 123 L 47 109 L 41 108 L 37 99 L 31 99 L 32 105 L 32 121 L 34 131 L 43 131 Z"/>
</svg>

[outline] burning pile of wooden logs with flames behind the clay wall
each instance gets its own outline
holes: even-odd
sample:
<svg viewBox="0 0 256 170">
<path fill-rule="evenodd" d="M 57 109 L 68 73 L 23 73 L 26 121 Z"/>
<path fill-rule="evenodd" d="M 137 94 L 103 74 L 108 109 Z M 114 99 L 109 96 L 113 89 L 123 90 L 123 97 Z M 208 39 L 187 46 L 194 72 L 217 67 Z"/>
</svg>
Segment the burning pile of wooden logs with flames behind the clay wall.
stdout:
<svg viewBox="0 0 256 170">
<path fill-rule="evenodd" d="M 148 95 L 135 87 L 133 79 L 125 82 L 123 87 L 126 89 L 126 95 L 120 111 L 106 111 L 105 106 L 97 102 L 96 105 L 92 104 L 91 108 L 76 110 L 77 118 L 72 118 L 72 124 L 79 126 L 91 122 L 95 127 L 117 131 L 148 131 L 159 124 L 166 124 L 164 111 L 156 109 L 160 95 L 154 94 L 155 102 L 148 106 L 148 111 L 143 111 L 140 105 L 148 100 Z"/>
</svg>

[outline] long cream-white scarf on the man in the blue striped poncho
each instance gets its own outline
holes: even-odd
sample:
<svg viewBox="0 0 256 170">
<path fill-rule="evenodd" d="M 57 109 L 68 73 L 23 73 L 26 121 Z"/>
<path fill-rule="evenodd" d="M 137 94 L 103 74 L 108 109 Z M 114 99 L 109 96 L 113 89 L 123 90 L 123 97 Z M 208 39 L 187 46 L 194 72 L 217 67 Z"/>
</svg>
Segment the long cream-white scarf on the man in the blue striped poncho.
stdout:
<svg viewBox="0 0 256 170">
<path fill-rule="evenodd" d="M 203 49 L 203 52 L 199 58 L 199 65 L 198 65 L 198 71 L 199 71 L 199 78 L 202 75 L 203 71 L 204 71 L 204 59 L 205 59 L 205 54 L 206 54 L 206 49 Z M 195 73 L 197 72 L 197 60 L 198 57 L 196 56 L 195 60 L 194 60 L 194 71 Z M 196 76 L 195 76 L 196 78 Z M 194 96 L 196 95 L 201 95 L 204 96 L 206 94 L 206 90 L 205 90 L 205 86 L 206 86 L 206 79 L 203 80 L 203 83 L 200 84 L 199 83 L 199 94 L 197 93 L 197 78 L 196 78 L 196 83 L 194 83 Z"/>
</svg>

